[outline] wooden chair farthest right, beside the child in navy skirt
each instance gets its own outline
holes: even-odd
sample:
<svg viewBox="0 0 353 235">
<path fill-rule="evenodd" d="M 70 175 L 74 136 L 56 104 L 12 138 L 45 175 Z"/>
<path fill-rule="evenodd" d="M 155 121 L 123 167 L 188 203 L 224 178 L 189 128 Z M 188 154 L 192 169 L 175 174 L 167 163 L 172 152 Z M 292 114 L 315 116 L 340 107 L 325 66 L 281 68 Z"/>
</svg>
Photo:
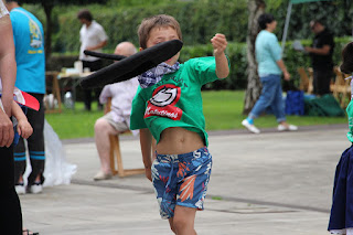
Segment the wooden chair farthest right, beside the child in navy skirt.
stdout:
<svg viewBox="0 0 353 235">
<path fill-rule="evenodd" d="M 351 99 L 350 81 L 345 79 L 350 75 L 342 73 L 339 67 L 334 67 L 335 74 L 334 86 L 332 87 L 333 96 L 339 100 L 342 108 L 345 108 Z"/>
</svg>

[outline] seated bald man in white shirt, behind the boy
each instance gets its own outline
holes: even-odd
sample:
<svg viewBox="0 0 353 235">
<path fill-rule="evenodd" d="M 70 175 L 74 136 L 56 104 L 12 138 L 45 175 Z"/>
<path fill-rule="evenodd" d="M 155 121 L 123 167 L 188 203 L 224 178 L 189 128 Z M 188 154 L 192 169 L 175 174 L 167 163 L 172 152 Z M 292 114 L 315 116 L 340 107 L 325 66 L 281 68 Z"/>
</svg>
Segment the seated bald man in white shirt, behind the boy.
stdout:
<svg viewBox="0 0 353 235">
<path fill-rule="evenodd" d="M 136 47 L 130 42 L 119 43 L 115 50 L 115 54 L 125 56 L 130 56 L 136 52 Z M 94 177 L 96 181 L 111 178 L 109 135 L 119 135 L 129 130 L 131 104 L 138 86 L 139 82 L 137 77 L 133 77 L 121 83 L 106 85 L 101 90 L 100 103 L 105 104 L 111 97 L 111 108 L 95 124 L 95 141 L 100 160 L 100 170 Z M 131 132 L 138 135 L 139 131 L 132 130 Z"/>
</svg>

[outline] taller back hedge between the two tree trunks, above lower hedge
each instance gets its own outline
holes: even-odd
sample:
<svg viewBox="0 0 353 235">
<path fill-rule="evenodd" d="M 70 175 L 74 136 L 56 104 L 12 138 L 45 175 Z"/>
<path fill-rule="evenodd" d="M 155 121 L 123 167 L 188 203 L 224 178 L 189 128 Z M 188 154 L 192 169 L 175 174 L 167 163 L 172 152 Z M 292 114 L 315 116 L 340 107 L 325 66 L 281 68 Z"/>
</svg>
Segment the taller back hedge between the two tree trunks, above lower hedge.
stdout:
<svg viewBox="0 0 353 235">
<path fill-rule="evenodd" d="M 118 42 L 132 41 L 138 45 L 137 28 L 143 18 L 167 13 L 173 15 L 181 25 L 186 45 L 205 44 L 216 32 L 227 35 L 229 41 L 244 42 L 247 29 L 246 2 L 210 2 L 202 7 L 197 2 L 164 2 L 158 7 L 118 8 L 111 6 L 87 6 L 97 22 L 106 30 L 109 41 L 107 50 L 113 50 Z M 54 52 L 78 51 L 78 31 L 81 23 L 76 19 L 78 7 L 71 7 L 58 15 L 60 31 L 54 38 Z M 65 13 L 63 13 L 65 12 Z M 237 20 L 233 19 L 237 15 Z"/>
</svg>

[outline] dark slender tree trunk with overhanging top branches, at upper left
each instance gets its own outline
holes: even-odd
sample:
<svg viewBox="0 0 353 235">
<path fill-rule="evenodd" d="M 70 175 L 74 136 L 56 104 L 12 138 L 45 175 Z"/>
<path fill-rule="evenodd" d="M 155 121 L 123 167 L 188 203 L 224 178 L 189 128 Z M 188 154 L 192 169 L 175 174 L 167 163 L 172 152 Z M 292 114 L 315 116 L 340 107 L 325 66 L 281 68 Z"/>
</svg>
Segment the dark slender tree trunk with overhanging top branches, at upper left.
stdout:
<svg viewBox="0 0 353 235">
<path fill-rule="evenodd" d="M 107 0 L 21 0 L 22 3 L 41 3 L 44 9 L 45 18 L 46 18 L 46 26 L 45 26 L 45 35 L 44 35 L 44 43 L 45 43 L 45 57 L 52 53 L 52 29 L 53 29 L 53 21 L 52 21 L 52 12 L 53 8 L 58 4 L 89 4 L 89 3 L 100 3 L 105 4 Z M 44 22 L 42 22 L 44 23 Z"/>
</svg>

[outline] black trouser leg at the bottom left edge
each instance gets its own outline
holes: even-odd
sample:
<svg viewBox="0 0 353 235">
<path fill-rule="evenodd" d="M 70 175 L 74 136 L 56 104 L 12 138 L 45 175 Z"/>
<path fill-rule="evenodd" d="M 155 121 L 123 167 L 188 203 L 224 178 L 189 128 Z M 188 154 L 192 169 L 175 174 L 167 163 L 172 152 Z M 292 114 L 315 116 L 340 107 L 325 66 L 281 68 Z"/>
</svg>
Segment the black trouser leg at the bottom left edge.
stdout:
<svg viewBox="0 0 353 235">
<path fill-rule="evenodd" d="M 13 147 L 0 148 L 0 231 L 1 234 L 22 235 L 22 213 L 14 190 Z"/>
</svg>

